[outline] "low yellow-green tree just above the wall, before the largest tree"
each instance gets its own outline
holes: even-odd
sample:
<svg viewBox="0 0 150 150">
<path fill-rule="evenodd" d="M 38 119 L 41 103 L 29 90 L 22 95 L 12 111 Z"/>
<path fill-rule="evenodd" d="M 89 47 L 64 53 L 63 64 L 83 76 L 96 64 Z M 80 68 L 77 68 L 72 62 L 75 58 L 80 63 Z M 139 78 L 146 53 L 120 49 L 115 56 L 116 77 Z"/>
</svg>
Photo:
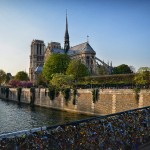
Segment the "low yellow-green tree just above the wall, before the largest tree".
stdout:
<svg viewBox="0 0 150 150">
<path fill-rule="evenodd" d="M 73 87 L 73 75 L 55 74 L 50 83 L 58 89 Z"/>
</svg>

